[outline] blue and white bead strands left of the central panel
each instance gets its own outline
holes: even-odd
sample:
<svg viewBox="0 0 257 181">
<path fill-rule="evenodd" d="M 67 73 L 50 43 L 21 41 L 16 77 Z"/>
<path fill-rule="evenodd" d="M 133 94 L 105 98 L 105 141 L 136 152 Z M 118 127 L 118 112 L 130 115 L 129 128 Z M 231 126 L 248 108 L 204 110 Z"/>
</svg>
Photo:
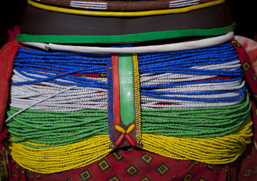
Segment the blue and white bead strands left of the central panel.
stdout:
<svg viewBox="0 0 257 181">
<path fill-rule="evenodd" d="M 77 86 L 30 109 L 77 111 L 108 107 L 106 75 L 109 54 L 47 52 L 20 48 L 14 61 L 9 105 L 24 109 L 69 86 Z M 80 70 L 83 70 L 80 72 Z"/>
</svg>

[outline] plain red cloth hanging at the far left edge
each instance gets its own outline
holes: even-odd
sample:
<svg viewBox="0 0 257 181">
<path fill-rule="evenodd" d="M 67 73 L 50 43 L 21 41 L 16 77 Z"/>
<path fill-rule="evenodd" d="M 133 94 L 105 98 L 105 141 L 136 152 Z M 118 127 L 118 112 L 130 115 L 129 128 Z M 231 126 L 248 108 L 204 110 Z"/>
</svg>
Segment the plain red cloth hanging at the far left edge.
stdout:
<svg viewBox="0 0 257 181">
<path fill-rule="evenodd" d="M 13 72 L 14 57 L 18 48 L 22 47 L 18 41 L 5 44 L 0 50 L 0 140 L 3 139 L 3 125 L 9 93 L 9 80 Z"/>
</svg>

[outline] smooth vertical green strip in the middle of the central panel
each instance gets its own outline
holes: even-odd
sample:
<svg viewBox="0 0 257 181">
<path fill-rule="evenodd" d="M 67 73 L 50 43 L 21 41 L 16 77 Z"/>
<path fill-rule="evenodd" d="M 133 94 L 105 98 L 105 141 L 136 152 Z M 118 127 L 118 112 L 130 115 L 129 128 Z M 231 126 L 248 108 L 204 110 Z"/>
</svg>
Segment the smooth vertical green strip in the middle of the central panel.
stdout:
<svg viewBox="0 0 257 181">
<path fill-rule="evenodd" d="M 133 57 L 119 54 L 119 98 L 121 122 L 127 126 L 135 120 Z"/>
</svg>

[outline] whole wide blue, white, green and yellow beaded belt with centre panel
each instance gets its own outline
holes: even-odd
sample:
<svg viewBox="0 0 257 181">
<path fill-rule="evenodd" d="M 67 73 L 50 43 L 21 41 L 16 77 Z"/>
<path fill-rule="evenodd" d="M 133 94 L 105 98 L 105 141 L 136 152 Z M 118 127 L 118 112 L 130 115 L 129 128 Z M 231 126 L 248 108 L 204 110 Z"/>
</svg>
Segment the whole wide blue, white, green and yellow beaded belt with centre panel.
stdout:
<svg viewBox="0 0 257 181">
<path fill-rule="evenodd" d="M 20 48 L 13 73 L 6 144 L 32 171 L 79 168 L 125 145 L 229 163 L 252 136 L 231 42 L 126 54 Z"/>
</svg>

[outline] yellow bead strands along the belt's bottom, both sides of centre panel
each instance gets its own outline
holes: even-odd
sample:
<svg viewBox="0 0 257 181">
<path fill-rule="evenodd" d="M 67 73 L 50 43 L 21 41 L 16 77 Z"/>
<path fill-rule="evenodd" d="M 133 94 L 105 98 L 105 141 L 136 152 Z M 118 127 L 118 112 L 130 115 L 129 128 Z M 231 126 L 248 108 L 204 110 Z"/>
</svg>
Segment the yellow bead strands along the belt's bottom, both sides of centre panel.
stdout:
<svg viewBox="0 0 257 181">
<path fill-rule="evenodd" d="M 142 134 L 142 145 L 145 150 L 170 158 L 195 160 L 207 164 L 225 164 L 236 160 L 244 151 L 245 145 L 251 142 L 250 137 L 253 135 L 251 125 L 249 116 L 238 130 L 215 138 L 179 138 Z M 39 147 L 46 146 L 28 141 L 26 143 Z M 110 143 L 109 135 L 100 135 L 74 144 L 44 149 L 11 142 L 7 149 L 24 168 L 49 173 L 75 169 L 95 162 L 112 151 L 109 148 Z M 21 151 L 24 154 L 21 155 Z"/>
</svg>

